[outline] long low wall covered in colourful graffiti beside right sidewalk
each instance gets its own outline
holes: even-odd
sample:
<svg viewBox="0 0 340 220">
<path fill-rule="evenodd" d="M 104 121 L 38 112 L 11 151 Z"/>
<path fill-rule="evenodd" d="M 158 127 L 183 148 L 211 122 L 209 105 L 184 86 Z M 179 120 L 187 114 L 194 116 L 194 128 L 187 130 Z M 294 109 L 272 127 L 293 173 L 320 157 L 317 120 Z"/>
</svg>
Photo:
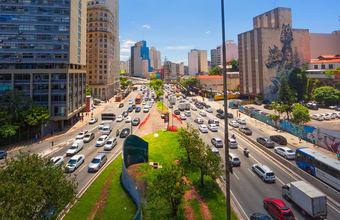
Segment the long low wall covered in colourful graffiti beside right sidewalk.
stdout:
<svg viewBox="0 0 340 220">
<path fill-rule="evenodd" d="M 277 129 L 295 135 L 296 137 L 301 135 L 301 138 L 303 140 L 310 143 L 313 143 L 313 139 L 315 139 L 315 144 L 317 146 L 331 152 L 340 153 L 340 132 L 326 129 L 318 129 L 307 125 L 297 125 L 284 120 L 277 120 L 274 122 L 265 115 L 249 110 L 246 106 L 239 106 L 238 110 Z"/>
</svg>

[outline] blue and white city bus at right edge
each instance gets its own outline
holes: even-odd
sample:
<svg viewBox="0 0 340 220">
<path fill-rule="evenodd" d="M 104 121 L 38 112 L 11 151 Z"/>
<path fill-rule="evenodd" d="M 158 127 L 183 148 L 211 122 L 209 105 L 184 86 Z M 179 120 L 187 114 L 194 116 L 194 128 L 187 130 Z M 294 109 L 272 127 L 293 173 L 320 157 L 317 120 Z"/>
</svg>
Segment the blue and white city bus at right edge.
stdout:
<svg viewBox="0 0 340 220">
<path fill-rule="evenodd" d="M 340 163 L 338 160 L 309 147 L 302 147 L 295 152 L 295 162 L 298 167 L 310 175 L 340 190 Z"/>
</svg>

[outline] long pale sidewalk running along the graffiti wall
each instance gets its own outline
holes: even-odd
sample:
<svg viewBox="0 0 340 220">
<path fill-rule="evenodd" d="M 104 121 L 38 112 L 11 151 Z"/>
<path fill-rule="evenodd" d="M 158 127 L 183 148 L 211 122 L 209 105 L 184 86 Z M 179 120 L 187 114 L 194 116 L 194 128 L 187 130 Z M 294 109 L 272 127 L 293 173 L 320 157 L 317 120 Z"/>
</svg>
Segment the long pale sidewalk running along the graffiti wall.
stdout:
<svg viewBox="0 0 340 220">
<path fill-rule="evenodd" d="M 200 96 L 195 96 L 193 98 L 197 98 L 199 101 L 202 101 L 202 97 L 200 97 Z M 209 101 L 209 99 L 204 98 L 204 102 L 207 103 L 208 105 L 211 105 L 214 109 L 221 108 L 221 109 L 224 110 L 224 106 L 223 106 L 224 102 L 223 101 Z M 237 115 L 237 112 L 238 112 L 238 113 L 241 113 L 241 118 L 244 118 L 248 125 L 257 127 L 263 133 L 266 133 L 268 136 L 281 135 L 281 136 L 285 137 L 287 139 L 288 146 L 291 146 L 291 147 L 294 147 L 294 148 L 309 147 L 309 148 L 315 149 L 316 151 L 319 151 L 320 153 L 326 154 L 329 157 L 332 157 L 334 159 L 338 159 L 336 153 L 328 151 L 328 150 L 326 150 L 322 147 L 319 147 L 317 145 L 314 146 L 312 143 L 304 141 L 304 140 L 301 140 L 301 143 L 299 143 L 299 138 L 296 137 L 295 135 L 292 135 L 292 134 L 290 134 L 286 131 L 277 130 L 275 127 L 267 125 L 266 123 L 258 121 L 254 118 L 250 118 L 246 114 L 239 112 L 237 109 L 228 109 L 228 111 L 230 113 L 232 113 L 233 116 L 234 116 L 234 119 L 232 119 L 232 120 L 235 120 L 238 117 L 238 115 Z"/>
</svg>

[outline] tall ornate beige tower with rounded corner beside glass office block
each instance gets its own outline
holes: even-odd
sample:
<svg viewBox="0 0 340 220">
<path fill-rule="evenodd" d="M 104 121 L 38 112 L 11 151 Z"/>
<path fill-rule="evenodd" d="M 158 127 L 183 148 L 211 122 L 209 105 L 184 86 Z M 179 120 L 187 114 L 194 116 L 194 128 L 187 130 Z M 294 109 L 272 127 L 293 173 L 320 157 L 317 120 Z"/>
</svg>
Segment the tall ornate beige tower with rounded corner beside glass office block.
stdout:
<svg viewBox="0 0 340 220">
<path fill-rule="evenodd" d="M 108 100 L 119 88 L 118 0 L 87 2 L 87 82 L 94 98 Z M 111 3 L 113 3 L 111 1 Z M 113 13 L 112 13 L 113 12 Z"/>
</svg>

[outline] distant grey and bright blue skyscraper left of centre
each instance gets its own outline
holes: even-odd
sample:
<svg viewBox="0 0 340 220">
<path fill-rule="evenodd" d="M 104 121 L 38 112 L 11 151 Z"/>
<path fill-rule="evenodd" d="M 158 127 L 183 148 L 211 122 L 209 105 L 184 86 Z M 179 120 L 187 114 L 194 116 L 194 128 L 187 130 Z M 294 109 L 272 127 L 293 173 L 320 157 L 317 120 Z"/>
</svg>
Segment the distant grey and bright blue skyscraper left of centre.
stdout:
<svg viewBox="0 0 340 220">
<path fill-rule="evenodd" d="M 147 60 L 148 63 L 143 62 Z M 147 68 L 143 68 L 147 65 Z M 134 46 L 131 47 L 131 75 L 136 77 L 142 77 L 143 71 L 146 70 L 148 72 L 152 72 L 152 67 L 150 66 L 150 59 L 149 59 L 149 48 L 146 46 L 146 41 L 137 42 Z M 146 76 L 145 76 L 146 77 Z"/>
</svg>

